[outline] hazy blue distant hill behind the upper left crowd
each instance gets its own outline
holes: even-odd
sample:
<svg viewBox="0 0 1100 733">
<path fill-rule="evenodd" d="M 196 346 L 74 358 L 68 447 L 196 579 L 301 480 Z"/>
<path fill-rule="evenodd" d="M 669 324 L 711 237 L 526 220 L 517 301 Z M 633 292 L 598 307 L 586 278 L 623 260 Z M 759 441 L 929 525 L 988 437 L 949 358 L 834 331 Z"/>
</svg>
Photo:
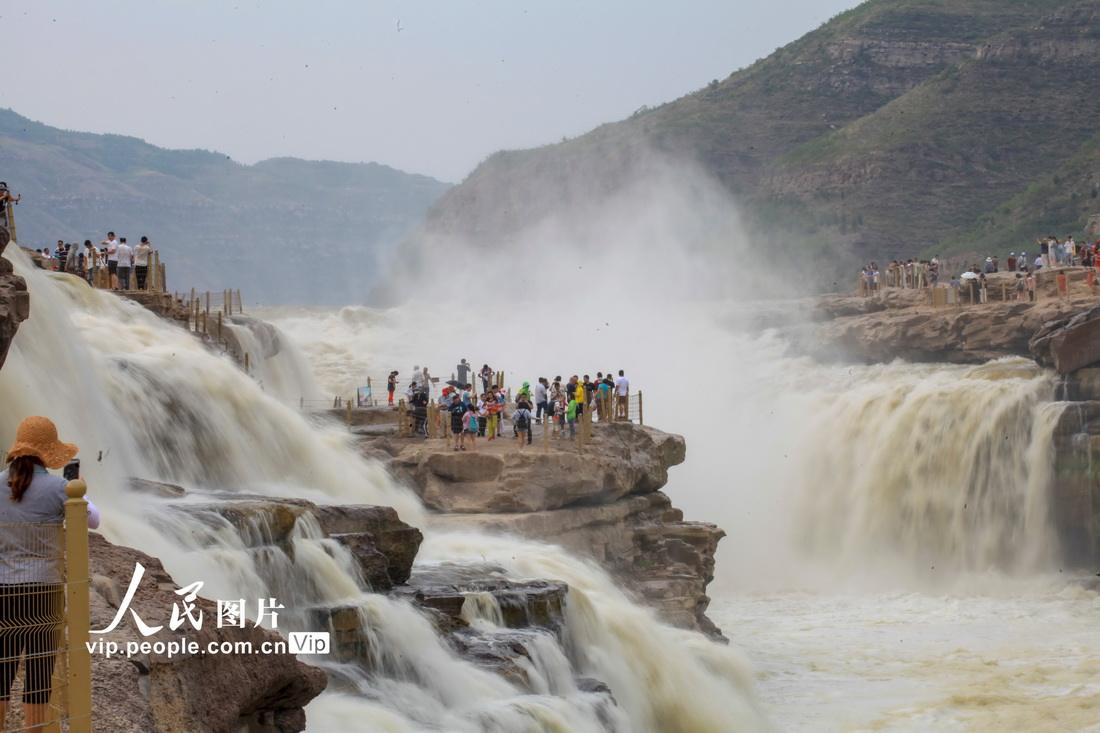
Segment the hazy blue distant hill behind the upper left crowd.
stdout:
<svg viewBox="0 0 1100 733">
<path fill-rule="evenodd" d="M 362 302 L 381 261 L 448 188 L 376 163 L 274 158 L 58 130 L 0 110 L 0 179 L 22 194 L 25 247 L 147 234 L 169 289 L 246 302 Z"/>
</svg>

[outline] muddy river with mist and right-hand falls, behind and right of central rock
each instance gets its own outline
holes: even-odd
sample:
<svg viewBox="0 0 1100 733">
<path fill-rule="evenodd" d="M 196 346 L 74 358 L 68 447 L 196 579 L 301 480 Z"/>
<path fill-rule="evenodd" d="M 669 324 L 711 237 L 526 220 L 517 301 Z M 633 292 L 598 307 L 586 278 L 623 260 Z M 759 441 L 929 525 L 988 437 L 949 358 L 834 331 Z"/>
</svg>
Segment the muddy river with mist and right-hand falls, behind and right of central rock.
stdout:
<svg viewBox="0 0 1100 733">
<path fill-rule="evenodd" d="M 1100 730 L 1100 595 L 1059 572 L 1048 522 L 1052 375 L 822 365 L 725 308 L 662 309 L 608 306 L 566 351 L 507 313 L 463 339 L 427 308 L 266 315 L 330 392 L 460 357 L 513 384 L 628 368 L 647 422 L 688 438 L 673 503 L 729 533 L 711 615 L 781 730 Z"/>
</svg>

